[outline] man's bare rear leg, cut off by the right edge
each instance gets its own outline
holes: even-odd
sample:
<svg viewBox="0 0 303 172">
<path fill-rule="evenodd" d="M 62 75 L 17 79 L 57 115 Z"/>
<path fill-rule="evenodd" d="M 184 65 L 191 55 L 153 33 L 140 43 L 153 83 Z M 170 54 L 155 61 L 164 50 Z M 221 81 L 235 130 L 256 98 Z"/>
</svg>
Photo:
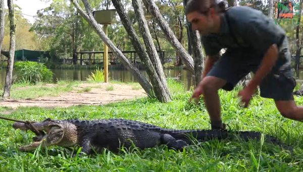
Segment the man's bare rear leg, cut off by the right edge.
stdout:
<svg viewBox="0 0 303 172">
<path fill-rule="evenodd" d="M 275 101 L 275 104 L 283 117 L 303 122 L 303 107 L 297 106 L 294 100 Z"/>
</svg>

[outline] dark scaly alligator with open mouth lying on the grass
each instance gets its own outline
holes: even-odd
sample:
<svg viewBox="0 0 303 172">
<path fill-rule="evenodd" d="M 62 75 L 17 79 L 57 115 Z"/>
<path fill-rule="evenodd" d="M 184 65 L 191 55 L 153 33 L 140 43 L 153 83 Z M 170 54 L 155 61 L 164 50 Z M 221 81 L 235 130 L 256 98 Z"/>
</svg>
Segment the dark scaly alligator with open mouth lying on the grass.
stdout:
<svg viewBox="0 0 303 172">
<path fill-rule="evenodd" d="M 261 139 L 260 132 L 227 130 L 173 130 L 165 129 L 139 121 L 125 119 L 104 120 L 52 120 L 45 119 L 42 122 L 34 122 L 32 125 L 41 137 L 34 137 L 29 145 L 20 146 L 21 151 L 35 150 L 40 144 L 44 146 L 71 147 L 79 145 L 81 153 L 92 154 L 102 152 L 103 148 L 117 152 L 121 146 L 130 148 L 135 145 L 140 149 L 155 147 L 165 144 L 168 148 L 180 150 L 195 141 L 207 141 L 210 139 L 243 140 Z M 30 130 L 25 123 L 15 122 L 13 128 Z M 265 140 L 272 143 L 280 143 L 273 137 L 265 135 Z"/>
</svg>

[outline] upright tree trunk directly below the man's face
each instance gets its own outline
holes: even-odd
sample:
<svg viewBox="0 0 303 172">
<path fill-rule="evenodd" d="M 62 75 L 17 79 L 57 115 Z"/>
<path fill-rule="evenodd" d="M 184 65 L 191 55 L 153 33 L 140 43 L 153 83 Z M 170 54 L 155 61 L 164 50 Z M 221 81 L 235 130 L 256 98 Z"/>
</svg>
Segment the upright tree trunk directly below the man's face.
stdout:
<svg viewBox="0 0 303 172">
<path fill-rule="evenodd" d="M 187 0 L 183 0 L 184 9 L 186 8 Z M 204 56 L 202 52 L 202 44 L 200 41 L 200 34 L 198 31 L 193 31 L 191 29 L 191 24 L 186 22 L 186 30 L 188 35 L 188 51 L 192 53 L 194 61 L 194 76 L 195 76 L 195 85 L 201 80 L 201 75 L 204 68 Z"/>
</svg>

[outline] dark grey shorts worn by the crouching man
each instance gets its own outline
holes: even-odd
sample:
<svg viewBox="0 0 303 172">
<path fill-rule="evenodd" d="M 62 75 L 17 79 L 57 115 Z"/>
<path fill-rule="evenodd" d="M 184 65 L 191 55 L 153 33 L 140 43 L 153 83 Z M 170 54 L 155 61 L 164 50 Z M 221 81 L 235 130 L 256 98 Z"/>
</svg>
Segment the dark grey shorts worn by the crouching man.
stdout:
<svg viewBox="0 0 303 172">
<path fill-rule="evenodd" d="M 260 84 L 260 96 L 274 100 L 293 100 L 296 81 L 290 68 L 288 50 L 280 53 L 273 69 Z M 227 51 L 214 64 L 207 76 L 215 76 L 227 81 L 222 89 L 231 91 L 249 72 L 256 72 L 263 56 L 245 51 Z"/>
</svg>

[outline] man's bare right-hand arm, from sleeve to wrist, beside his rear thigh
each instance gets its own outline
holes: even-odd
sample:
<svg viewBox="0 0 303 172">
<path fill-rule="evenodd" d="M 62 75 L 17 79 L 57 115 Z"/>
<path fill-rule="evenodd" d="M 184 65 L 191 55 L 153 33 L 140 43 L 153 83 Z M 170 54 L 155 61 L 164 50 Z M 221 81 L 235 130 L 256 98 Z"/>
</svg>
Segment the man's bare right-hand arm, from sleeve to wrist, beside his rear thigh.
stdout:
<svg viewBox="0 0 303 172">
<path fill-rule="evenodd" d="M 257 86 L 260 85 L 263 78 L 271 71 L 278 59 L 278 47 L 273 44 L 267 50 L 259 69 L 256 71 L 255 76 L 250 80 L 247 87 L 252 90 L 256 90 Z"/>
</svg>

